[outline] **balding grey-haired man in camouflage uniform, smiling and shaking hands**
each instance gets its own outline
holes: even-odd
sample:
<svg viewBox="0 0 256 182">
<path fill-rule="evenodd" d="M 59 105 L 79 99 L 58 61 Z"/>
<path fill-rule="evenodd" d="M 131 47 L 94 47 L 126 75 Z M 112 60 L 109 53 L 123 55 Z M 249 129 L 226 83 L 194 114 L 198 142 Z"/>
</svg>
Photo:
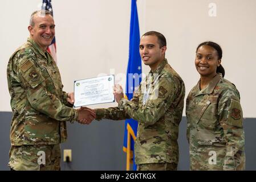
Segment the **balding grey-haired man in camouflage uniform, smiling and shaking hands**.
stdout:
<svg viewBox="0 0 256 182">
<path fill-rule="evenodd" d="M 30 38 L 10 57 L 7 81 L 11 95 L 13 170 L 59 170 L 60 145 L 67 140 L 66 121 L 90 123 L 90 110 L 75 110 L 74 93 L 63 92 L 59 69 L 46 51 L 55 35 L 50 12 L 31 15 Z"/>
</svg>

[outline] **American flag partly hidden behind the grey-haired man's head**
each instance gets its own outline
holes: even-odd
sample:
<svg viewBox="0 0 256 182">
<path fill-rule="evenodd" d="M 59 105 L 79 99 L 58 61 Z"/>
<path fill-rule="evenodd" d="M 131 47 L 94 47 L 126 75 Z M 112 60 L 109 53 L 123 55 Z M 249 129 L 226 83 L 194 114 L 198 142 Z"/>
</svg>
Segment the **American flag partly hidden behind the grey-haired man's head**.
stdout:
<svg viewBox="0 0 256 182">
<path fill-rule="evenodd" d="M 53 11 L 52 11 L 52 6 L 51 6 L 51 0 L 43 0 L 42 10 L 48 10 L 48 11 L 50 11 L 52 16 L 54 15 Z M 55 62 L 57 62 L 55 37 L 54 37 L 54 39 L 52 39 L 51 45 L 48 46 L 47 51 L 51 53 Z"/>
</svg>

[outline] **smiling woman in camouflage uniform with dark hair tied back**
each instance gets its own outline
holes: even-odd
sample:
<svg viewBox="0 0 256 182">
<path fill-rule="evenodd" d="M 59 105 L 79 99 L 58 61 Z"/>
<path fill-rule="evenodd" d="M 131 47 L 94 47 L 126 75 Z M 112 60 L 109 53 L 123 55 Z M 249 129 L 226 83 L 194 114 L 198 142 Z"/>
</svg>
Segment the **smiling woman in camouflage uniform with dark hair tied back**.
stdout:
<svg viewBox="0 0 256 182">
<path fill-rule="evenodd" d="M 222 49 L 213 42 L 197 47 L 200 80 L 186 99 L 191 170 L 245 169 L 245 135 L 240 96 L 224 79 Z"/>
</svg>

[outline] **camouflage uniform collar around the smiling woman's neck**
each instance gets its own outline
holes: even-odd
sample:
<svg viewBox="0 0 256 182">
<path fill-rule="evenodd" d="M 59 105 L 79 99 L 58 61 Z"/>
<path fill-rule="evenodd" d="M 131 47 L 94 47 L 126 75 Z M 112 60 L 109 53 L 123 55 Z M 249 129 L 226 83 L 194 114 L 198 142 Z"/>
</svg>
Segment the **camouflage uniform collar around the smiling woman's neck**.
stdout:
<svg viewBox="0 0 256 182">
<path fill-rule="evenodd" d="M 197 82 L 196 86 L 196 96 L 203 95 L 203 94 L 211 94 L 213 93 L 214 88 L 218 84 L 218 82 L 221 80 L 222 76 L 220 74 L 217 74 L 210 82 L 209 84 L 202 90 L 200 90 L 200 80 Z"/>
</svg>

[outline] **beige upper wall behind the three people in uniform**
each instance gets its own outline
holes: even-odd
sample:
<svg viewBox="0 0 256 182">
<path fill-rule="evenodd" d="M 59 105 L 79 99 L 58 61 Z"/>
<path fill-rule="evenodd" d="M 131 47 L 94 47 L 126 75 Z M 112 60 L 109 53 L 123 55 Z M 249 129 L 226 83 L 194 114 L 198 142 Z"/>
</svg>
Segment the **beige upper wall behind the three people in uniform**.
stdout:
<svg viewBox="0 0 256 182">
<path fill-rule="evenodd" d="M 0 11 L 0 111 L 10 111 L 6 65 L 11 53 L 26 41 L 27 25 L 32 11 L 41 0 L 3 1 Z M 128 61 L 129 0 L 52 0 L 56 24 L 58 65 L 64 90 L 73 89 L 73 81 L 115 73 L 125 86 Z M 209 4 L 216 3 L 217 14 L 209 16 Z M 196 47 L 212 40 L 223 49 L 222 65 L 228 80 L 241 94 L 245 117 L 256 117 L 256 52 L 255 0 L 137 0 L 140 33 L 156 30 L 168 42 L 166 57 L 186 85 L 186 95 L 198 81 L 194 68 Z M 149 69 L 143 66 L 143 72 Z M 116 104 L 92 107 L 115 106 Z"/>
</svg>

